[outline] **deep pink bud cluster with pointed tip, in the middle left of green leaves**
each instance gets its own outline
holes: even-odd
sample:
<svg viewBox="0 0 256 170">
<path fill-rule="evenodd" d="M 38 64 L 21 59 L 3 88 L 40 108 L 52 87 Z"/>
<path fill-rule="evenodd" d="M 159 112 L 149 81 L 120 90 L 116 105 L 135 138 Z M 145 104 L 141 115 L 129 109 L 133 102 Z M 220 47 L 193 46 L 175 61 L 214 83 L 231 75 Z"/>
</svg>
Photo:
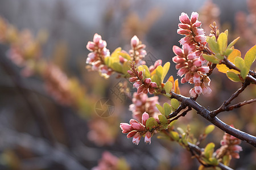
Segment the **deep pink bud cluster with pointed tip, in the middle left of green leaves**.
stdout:
<svg viewBox="0 0 256 170">
<path fill-rule="evenodd" d="M 133 87 L 137 88 L 138 94 L 141 92 L 144 94 L 147 94 L 148 92 L 153 94 L 155 92 L 157 84 L 155 82 L 151 82 L 151 78 L 146 78 L 143 80 L 143 72 L 138 71 L 138 68 L 135 66 L 134 62 L 131 63 L 131 69 L 127 72 L 131 75 L 129 81 L 131 83 L 134 82 Z"/>
</svg>

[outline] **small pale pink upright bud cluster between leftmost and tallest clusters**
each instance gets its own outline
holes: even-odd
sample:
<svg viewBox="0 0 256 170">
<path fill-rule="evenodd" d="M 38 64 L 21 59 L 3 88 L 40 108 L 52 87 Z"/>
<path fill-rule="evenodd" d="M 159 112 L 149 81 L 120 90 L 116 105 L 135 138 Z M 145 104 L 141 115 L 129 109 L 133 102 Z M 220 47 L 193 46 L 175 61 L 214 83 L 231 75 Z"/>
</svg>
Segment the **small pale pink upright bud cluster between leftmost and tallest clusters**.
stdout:
<svg viewBox="0 0 256 170">
<path fill-rule="evenodd" d="M 139 41 L 137 36 L 133 36 L 131 38 L 131 50 L 129 50 L 131 60 L 135 61 L 136 65 L 143 65 L 144 61 L 142 59 L 147 55 L 146 45 L 142 44 L 141 41 Z"/>
</svg>

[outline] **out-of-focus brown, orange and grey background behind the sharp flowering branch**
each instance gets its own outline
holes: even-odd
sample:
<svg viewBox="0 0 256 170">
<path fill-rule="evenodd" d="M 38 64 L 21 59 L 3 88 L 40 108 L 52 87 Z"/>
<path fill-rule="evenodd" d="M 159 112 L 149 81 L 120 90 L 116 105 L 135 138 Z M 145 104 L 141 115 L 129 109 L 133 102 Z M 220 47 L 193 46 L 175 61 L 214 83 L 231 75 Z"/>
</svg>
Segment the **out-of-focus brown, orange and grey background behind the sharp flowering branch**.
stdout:
<svg viewBox="0 0 256 170">
<path fill-rule="evenodd" d="M 175 142 L 154 136 L 151 145 L 141 141 L 136 146 L 127 139 L 119 129 L 120 122 L 131 118 L 131 100 L 119 88 L 127 80 L 115 76 L 106 80 L 85 68 L 86 44 L 94 33 L 106 40 L 110 52 L 118 46 L 128 51 L 131 37 L 137 35 L 147 46 L 147 65 L 157 59 L 170 61 L 168 75 L 177 78 L 172 46 L 183 37 L 176 33 L 179 15 L 190 16 L 192 11 L 199 12 L 206 35 L 215 21 L 220 31 L 229 29 L 229 41 L 240 36 L 235 48 L 242 57 L 255 45 L 254 0 L 0 0 L 0 16 L 5 20 L 0 30 L 19 42 L 5 41 L 0 31 L 0 169 L 106 169 L 108 165 L 109 169 L 197 169 L 197 160 Z M 29 48 L 21 51 L 24 44 Z M 212 94 L 197 101 L 213 110 L 241 84 L 217 70 L 210 78 Z M 180 84 L 181 94 L 189 96 L 190 88 Z M 134 91 L 130 88 L 130 95 Z M 251 85 L 233 104 L 255 96 Z M 107 101 L 112 109 L 101 114 L 101 103 Z M 159 102 L 166 100 L 160 97 Z M 219 118 L 256 135 L 255 104 L 221 113 Z M 198 137 L 209 122 L 191 111 L 176 126 L 185 129 L 187 124 Z M 220 147 L 223 135 L 216 128 L 200 147 L 209 142 Z M 245 142 L 241 146 L 241 158 L 233 159 L 230 167 L 256 169 L 255 148 Z"/>
</svg>

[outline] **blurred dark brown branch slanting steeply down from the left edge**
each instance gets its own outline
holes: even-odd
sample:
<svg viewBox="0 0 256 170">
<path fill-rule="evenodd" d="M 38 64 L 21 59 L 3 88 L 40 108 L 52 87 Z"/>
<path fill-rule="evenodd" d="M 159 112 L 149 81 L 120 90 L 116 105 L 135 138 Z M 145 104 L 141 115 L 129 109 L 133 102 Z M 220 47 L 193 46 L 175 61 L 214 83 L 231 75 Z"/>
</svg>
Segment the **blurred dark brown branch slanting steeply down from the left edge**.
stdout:
<svg viewBox="0 0 256 170">
<path fill-rule="evenodd" d="M 36 103 L 37 99 L 32 92 L 25 90 L 28 89 L 23 83 L 21 76 L 13 69 L 13 66 L 5 57 L 5 53 L 2 48 L 0 49 L 0 66 L 5 70 L 5 72 L 10 76 L 14 83 L 14 86 L 19 91 L 20 95 L 23 97 L 28 109 L 30 109 L 31 114 L 34 116 L 36 122 L 38 122 L 39 130 L 42 136 L 49 140 L 51 145 L 55 145 L 56 139 L 49 127 L 46 120 L 46 116 L 39 105 Z"/>
</svg>

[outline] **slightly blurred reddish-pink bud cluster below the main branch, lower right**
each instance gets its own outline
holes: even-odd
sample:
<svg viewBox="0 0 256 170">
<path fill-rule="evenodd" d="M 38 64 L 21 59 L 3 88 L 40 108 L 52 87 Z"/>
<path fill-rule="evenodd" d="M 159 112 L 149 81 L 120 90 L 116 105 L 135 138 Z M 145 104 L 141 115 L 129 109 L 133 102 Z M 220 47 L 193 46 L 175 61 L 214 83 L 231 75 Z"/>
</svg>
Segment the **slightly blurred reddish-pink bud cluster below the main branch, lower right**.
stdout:
<svg viewBox="0 0 256 170">
<path fill-rule="evenodd" d="M 239 146 L 240 143 L 240 139 L 225 133 L 220 142 L 221 147 L 216 150 L 217 158 L 222 158 L 224 155 L 231 155 L 233 158 L 239 159 L 239 152 L 242 151 L 242 147 Z"/>
</svg>

